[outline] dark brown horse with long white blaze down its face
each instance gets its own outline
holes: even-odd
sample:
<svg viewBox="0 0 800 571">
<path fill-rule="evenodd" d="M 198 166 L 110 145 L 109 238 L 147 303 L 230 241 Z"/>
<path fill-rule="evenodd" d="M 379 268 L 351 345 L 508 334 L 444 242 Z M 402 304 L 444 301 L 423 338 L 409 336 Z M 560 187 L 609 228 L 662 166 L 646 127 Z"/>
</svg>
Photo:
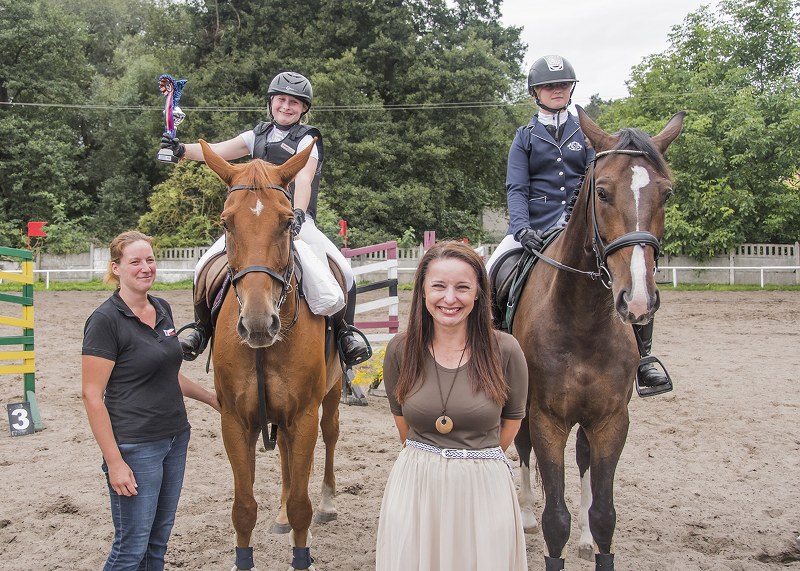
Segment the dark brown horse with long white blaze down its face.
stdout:
<svg viewBox="0 0 800 571">
<path fill-rule="evenodd" d="M 545 506 L 545 569 L 564 569 L 570 533 L 564 501 L 564 448 L 576 424 L 581 474 L 579 553 L 595 569 L 614 569 L 614 473 L 628 434 L 628 403 L 639 351 L 632 324 L 659 306 L 654 272 L 672 194 L 663 155 L 685 113 L 650 137 L 638 129 L 608 134 L 578 107 L 596 151 L 571 216 L 539 261 L 518 300 L 512 334 L 528 362 L 528 412 L 515 439 L 522 463 L 520 507 L 536 527 L 531 447 Z"/>
</svg>

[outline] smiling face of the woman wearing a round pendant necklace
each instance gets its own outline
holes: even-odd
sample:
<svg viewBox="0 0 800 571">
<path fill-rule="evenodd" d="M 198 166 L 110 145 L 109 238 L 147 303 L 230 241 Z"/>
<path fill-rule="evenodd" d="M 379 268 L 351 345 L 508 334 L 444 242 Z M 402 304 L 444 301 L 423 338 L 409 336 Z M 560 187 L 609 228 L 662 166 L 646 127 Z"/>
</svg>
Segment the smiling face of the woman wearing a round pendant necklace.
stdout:
<svg viewBox="0 0 800 571">
<path fill-rule="evenodd" d="M 424 292 L 434 327 L 466 327 L 478 296 L 478 279 L 466 262 L 440 258 L 428 266 Z"/>
</svg>

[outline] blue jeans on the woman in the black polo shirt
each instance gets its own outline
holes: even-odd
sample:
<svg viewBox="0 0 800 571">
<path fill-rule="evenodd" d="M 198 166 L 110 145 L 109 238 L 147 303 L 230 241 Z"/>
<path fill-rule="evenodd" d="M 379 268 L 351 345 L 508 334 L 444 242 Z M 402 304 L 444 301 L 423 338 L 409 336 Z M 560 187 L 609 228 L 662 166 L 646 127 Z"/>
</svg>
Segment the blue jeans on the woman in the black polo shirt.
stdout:
<svg viewBox="0 0 800 571">
<path fill-rule="evenodd" d="M 170 438 L 120 444 L 122 459 L 136 478 L 135 496 L 109 485 L 114 543 L 103 571 L 162 571 L 167 541 L 181 497 L 190 430 Z M 108 482 L 108 467 L 103 462 Z"/>
</svg>

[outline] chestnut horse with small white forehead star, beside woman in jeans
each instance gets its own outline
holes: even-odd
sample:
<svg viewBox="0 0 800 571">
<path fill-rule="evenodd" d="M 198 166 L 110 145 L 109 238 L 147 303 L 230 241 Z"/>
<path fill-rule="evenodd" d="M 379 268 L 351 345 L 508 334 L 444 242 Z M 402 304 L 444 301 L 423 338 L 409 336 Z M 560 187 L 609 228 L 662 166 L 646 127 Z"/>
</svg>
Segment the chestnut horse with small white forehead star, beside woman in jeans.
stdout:
<svg viewBox="0 0 800 571">
<path fill-rule="evenodd" d="M 267 422 L 278 427 L 282 487 L 276 523 L 291 527 L 292 568 L 313 569 L 308 482 L 317 425 L 325 442 L 322 499 L 315 517 L 322 522 L 336 518 L 333 456 L 342 391 L 342 370 L 332 338 L 326 342 L 325 318 L 311 313 L 301 297 L 294 261 L 294 213 L 287 188 L 314 145 L 282 165 L 260 159 L 230 164 L 205 141 L 200 145 L 206 164 L 228 186 L 221 220 L 232 285 L 219 312 L 212 354 L 222 438 L 234 480 L 233 569 L 254 567 L 255 451 L 259 432 L 267 446 Z"/>
</svg>

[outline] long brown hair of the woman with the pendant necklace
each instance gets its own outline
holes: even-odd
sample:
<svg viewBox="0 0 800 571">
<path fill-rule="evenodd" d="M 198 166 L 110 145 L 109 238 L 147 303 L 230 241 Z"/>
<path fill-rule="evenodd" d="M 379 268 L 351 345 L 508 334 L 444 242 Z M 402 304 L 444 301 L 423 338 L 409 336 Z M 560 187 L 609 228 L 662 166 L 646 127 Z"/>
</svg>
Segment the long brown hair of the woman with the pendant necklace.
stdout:
<svg viewBox="0 0 800 571">
<path fill-rule="evenodd" d="M 395 387 L 397 401 L 402 403 L 422 382 L 428 347 L 433 342 L 433 317 L 425 306 L 425 278 L 428 267 L 436 260 L 456 259 L 469 265 L 478 282 L 475 305 L 467 317 L 467 346 L 471 358 L 469 375 L 474 392 L 483 391 L 497 404 L 503 405 L 508 396 L 508 385 L 500 364 L 500 349 L 492 328 L 492 304 L 489 277 L 480 256 L 463 242 L 445 241 L 434 244 L 420 260 L 414 276 L 411 296 L 411 313 L 404 333 L 403 361 Z"/>
</svg>

